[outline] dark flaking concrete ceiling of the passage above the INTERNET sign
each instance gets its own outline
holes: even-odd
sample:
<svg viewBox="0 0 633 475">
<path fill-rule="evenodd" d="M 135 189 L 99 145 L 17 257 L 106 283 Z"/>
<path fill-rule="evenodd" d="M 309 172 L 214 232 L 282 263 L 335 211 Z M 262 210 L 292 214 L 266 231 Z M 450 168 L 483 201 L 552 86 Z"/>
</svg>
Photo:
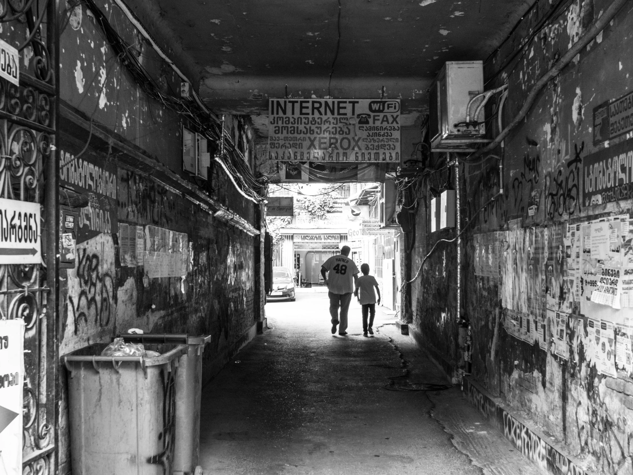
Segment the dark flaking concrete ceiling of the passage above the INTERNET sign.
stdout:
<svg viewBox="0 0 633 475">
<path fill-rule="evenodd" d="M 284 96 L 400 98 L 413 123 L 444 61 L 484 60 L 532 1 L 154 0 L 201 97 L 263 135 L 257 116 Z"/>
</svg>

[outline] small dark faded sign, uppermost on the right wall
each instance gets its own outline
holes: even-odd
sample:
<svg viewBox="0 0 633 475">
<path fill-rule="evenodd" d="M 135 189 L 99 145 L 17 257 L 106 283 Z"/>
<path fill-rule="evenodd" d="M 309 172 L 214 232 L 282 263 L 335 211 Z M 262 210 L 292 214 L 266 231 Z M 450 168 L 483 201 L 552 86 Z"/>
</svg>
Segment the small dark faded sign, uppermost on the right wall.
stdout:
<svg viewBox="0 0 633 475">
<path fill-rule="evenodd" d="M 633 92 L 594 108 L 594 145 L 633 130 Z"/>
</svg>

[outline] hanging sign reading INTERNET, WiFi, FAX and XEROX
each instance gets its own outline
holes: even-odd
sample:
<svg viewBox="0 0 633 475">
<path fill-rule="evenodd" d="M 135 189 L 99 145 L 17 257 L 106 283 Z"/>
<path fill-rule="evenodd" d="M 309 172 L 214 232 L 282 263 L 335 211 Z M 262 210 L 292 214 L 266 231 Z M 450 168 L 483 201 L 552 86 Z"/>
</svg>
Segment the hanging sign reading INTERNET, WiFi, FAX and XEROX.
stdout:
<svg viewBox="0 0 633 475">
<path fill-rule="evenodd" d="M 269 99 L 268 160 L 399 162 L 400 101 Z"/>
</svg>

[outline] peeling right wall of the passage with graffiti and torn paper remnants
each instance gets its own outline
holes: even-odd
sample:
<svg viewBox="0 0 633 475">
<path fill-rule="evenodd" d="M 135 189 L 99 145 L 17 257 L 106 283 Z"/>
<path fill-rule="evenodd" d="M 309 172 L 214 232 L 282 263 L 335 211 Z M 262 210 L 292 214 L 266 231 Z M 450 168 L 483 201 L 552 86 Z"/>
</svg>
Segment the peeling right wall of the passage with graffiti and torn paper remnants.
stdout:
<svg viewBox="0 0 633 475">
<path fill-rule="evenodd" d="M 505 65 L 506 59 L 517 53 L 531 36 L 532 28 L 548 17 L 549 2 L 538 2 L 486 65 L 485 77 L 490 80 L 487 89 L 508 80 L 504 124 L 523 106 L 532 85 L 610 4 L 602 0 L 573 1 L 528 43 L 524 53 L 519 52 Z M 425 339 L 432 342 L 432 349 L 452 365 L 454 374 L 472 371 L 473 377 L 493 395 L 504 398 L 553 441 L 567 445 L 569 453 L 582 466 L 606 474 L 630 473 L 633 469 L 630 447 L 633 379 L 627 371 L 615 372 L 615 366 L 611 376 L 601 369 L 601 356 L 594 352 L 596 345 L 591 341 L 594 338 L 591 320 L 624 322 L 633 317 L 633 308 L 615 310 L 593 302 L 589 305 L 586 294 L 581 295 L 585 301 L 568 298 L 568 293 L 573 293 L 573 285 L 569 284 L 573 271 L 571 259 L 569 255 L 565 257 L 564 251 L 560 272 L 549 274 L 548 262 L 535 264 L 540 266 L 542 279 L 530 274 L 529 262 L 518 263 L 514 269 L 507 267 L 513 260 L 530 260 L 534 251 L 530 246 L 522 250 L 512 248 L 507 236 L 519 232 L 526 236 L 530 232 L 549 233 L 550 251 L 546 256 L 552 262 L 556 260 L 558 244 L 552 249 L 551 240 L 560 241 L 561 250 L 565 250 L 565 239 L 570 238 L 568 224 L 620 215 L 630 217 L 633 202 L 627 194 L 630 178 L 626 149 L 633 149 L 629 147 L 633 133 L 625 132 L 605 141 L 605 129 L 599 122 L 594 124 L 593 111 L 633 90 L 631 32 L 633 11 L 630 5 L 625 5 L 610 25 L 542 89 L 526 120 L 505 141 L 504 195 L 479 215 L 480 208 L 499 190 L 496 160 L 482 165 L 461 165 L 464 174 L 461 187 L 468 198 L 461 206 L 463 224 L 477 220 L 465 239 L 462 281 L 461 314 L 468 320 L 472 341 L 468 340 L 466 328 L 460 332 L 457 312 L 451 303 L 455 301 L 454 244 L 439 245 L 425 264 L 422 283 L 412 286 L 413 321 Z M 501 65 L 504 67 L 500 68 Z M 490 115 L 496 103 L 493 101 L 487 107 Z M 496 133 L 496 124 L 491 129 Z M 612 156 L 617 158 L 615 162 Z M 586 165 L 594 162 L 603 163 L 604 172 L 598 164 L 596 177 L 590 177 L 593 168 Z M 437 183 L 430 182 L 427 186 L 437 187 L 449 179 L 446 172 L 435 175 L 433 180 Z M 589 189 L 602 181 L 603 191 Z M 449 182 L 454 186 L 454 179 Z M 618 198 L 625 199 L 618 201 Z M 427 216 L 424 206 L 418 205 L 413 272 L 437 239 L 454 235 L 427 232 Z M 497 274 L 482 274 L 477 267 L 478 253 L 482 252 L 485 236 L 494 232 L 500 232 L 501 236 L 495 264 Z M 509 251 L 510 248 L 514 251 Z M 508 300 L 505 292 L 513 279 L 518 284 Z M 540 293 L 533 286 L 538 282 L 542 282 L 542 288 L 537 289 Z M 582 281 L 582 285 L 587 286 L 587 281 Z M 522 292 L 538 295 L 539 305 L 534 307 L 527 299 L 522 301 L 525 298 Z M 565 329 L 562 341 L 557 338 L 561 329 L 559 320 L 546 308 L 551 301 L 568 305 L 565 310 L 569 316 L 562 320 Z M 531 339 L 530 343 L 529 338 L 517 338 L 508 331 L 518 319 L 522 319 L 523 331 L 526 319 L 532 325 L 541 319 L 546 326 L 545 341 Z M 618 338 L 624 335 L 615 340 Z M 469 344 L 472 355 L 465 355 Z M 606 350 L 610 348 L 615 348 L 613 341 L 606 344 Z M 614 357 L 612 351 L 610 357 Z"/>
</svg>

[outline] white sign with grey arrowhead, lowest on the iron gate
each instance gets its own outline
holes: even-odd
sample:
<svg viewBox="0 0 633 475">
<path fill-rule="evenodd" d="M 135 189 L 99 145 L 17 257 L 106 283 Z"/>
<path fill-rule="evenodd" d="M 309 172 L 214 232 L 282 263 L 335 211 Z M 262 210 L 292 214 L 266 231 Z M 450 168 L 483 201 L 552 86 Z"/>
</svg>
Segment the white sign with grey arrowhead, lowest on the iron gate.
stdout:
<svg viewBox="0 0 633 475">
<path fill-rule="evenodd" d="M 0 473 L 22 475 L 24 320 L 0 320 Z"/>
</svg>

